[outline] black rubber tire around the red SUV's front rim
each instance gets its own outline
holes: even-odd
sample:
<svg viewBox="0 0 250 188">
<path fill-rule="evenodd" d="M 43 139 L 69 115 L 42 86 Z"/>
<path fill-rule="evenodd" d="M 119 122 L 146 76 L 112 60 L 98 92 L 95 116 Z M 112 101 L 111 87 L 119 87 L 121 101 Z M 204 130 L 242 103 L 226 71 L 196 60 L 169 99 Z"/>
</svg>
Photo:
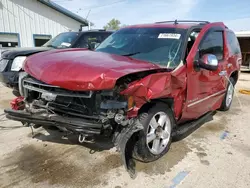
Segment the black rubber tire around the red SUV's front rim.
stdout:
<svg viewBox="0 0 250 188">
<path fill-rule="evenodd" d="M 147 131 L 148 127 L 150 126 L 149 123 L 151 119 L 155 116 L 155 114 L 159 112 L 165 112 L 165 114 L 169 117 L 170 124 L 171 124 L 171 133 L 170 138 L 168 141 L 168 144 L 166 145 L 165 149 L 160 154 L 153 154 L 150 152 L 148 146 L 147 146 Z M 175 120 L 173 116 L 172 110 L 164 103 L 158 103 L 155 104 L 153 107 L 151 107 L 148 112 L 142 113 L 139 115 L 140 123 L 143 125 L 144 129 L 139 132 L 138 137 L 135 141 L 134 146 L 134 152 L 133 157 L 141 162 L 152 162 L 160 157 L 162 157 L 164 154 L 166 154 L 170 148 L 171 141 L 172 141 L 172 130 L 175 125 Z"/>
</svg>

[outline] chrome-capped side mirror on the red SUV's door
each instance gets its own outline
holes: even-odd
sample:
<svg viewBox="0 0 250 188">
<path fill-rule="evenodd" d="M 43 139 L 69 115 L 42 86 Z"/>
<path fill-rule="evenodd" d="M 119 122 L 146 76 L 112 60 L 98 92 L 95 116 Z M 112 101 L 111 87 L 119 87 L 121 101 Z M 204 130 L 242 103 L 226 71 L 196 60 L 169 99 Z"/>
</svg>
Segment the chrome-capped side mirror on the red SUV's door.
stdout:
<svg viewBox="0 0 250 188">
<path fill-rule="evenodd" d="M 206 70 L 215 71 L 218 69 L 218 59 L 213 54 L 205 54 L 199 59 L 198 66 Z"/>
</svg>

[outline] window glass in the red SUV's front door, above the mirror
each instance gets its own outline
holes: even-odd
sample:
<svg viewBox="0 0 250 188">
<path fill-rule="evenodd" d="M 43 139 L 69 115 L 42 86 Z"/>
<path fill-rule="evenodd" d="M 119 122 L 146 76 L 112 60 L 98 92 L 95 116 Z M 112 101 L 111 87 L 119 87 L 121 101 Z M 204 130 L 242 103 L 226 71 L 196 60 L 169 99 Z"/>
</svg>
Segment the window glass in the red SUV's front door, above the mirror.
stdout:
<svg viewBox="0 0 250 188">
<path fill-rule="evenodd" d="M 199 47 L 199 56 L 202 57 L 205 54 L 213 54 L 218 60 L 223 59 L 223 32 L 213 31 L 205 36 Z"/>
</svg>

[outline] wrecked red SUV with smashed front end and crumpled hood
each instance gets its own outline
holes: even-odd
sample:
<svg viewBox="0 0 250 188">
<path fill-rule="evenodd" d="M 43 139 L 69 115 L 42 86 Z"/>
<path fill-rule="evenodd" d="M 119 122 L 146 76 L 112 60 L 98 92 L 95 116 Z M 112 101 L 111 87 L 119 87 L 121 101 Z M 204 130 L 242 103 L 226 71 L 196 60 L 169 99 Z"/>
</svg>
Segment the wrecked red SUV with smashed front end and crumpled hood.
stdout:
<svg viewBox="0 0 250 188">
<path fill-rule="evenodd" d="M 108 135 L 133 175 L 129 156 L 155 161 L 182 126 L 231 106 L 241 65 L 239 45 L 228 42 L 235 35 L 222 22 L 189 22 L 128 26 L 95 51 L 30 56 L 20 77 L 25 100 L 13 101 L 19 110 L 5 110 L 7 118 L 80 142 Z"/>
</svg>

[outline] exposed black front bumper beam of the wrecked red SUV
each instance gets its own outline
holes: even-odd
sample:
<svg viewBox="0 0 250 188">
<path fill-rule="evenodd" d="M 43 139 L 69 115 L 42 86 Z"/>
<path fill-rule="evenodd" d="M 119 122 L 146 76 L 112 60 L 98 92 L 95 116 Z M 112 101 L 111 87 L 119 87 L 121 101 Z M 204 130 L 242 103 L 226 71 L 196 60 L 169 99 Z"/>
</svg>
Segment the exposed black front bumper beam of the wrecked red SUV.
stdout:
<svg viewBox="0 0 250 188">
<path fill-rule="evenodd" d="M 20 122 L 34 123 L 42 126 L 56 126 L 81 134 L 100 134 L 103 125 L 96 120 L 70 118 L 59 115 L 31 114 L 21 110 L 4 110 L 8 119 Z"/>
</svg>

